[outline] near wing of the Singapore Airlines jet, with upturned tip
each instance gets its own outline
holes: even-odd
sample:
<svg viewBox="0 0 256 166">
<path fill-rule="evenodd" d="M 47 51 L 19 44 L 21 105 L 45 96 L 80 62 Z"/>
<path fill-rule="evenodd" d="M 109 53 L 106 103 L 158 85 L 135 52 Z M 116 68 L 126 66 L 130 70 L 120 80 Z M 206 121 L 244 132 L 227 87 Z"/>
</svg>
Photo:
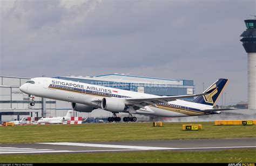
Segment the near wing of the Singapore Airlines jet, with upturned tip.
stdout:
<svg viewBox="0 0 256 166">
<path fill-rule="evenodd" d="M 165 103 L 168 104 L 168 102 L 174 101 L 179 98 L 187 98 L 187 97 L 196 97 L 196 96 L 203 96 L 203 95 L 208 95 L 208 93 L 211 93 L 214 91 L 216 88 L 213 88 L 212 90 L 206 92 L 206 93 L 201 93 L 201 94 L 196 94 L 196 95 L 182 95 L 182 96 L 157 96 L 157 97 L 132 97 L 132 98 L 126 98 L 126 102 L 130 105 L 134 105 L 133 107 L 134 110 L 138 110 L 140 108 L 144 108 L 144 106 L 147 105 L 153 105 L 155 107 L 158 107 L 156 104 L 158 103 Z"/>
</svg>

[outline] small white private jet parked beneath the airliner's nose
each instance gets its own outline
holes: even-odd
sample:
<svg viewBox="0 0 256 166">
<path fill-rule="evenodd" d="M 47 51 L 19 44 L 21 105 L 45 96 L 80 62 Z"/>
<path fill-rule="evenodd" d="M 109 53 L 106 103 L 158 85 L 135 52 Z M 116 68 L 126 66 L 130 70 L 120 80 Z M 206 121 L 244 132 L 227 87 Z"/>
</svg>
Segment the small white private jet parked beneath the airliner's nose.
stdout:
<svg viewBox="0 0 256 166">
<path fill-rule="evenodd" d="M 45 123 L 45 124 L 60 124 L 63 123 L 65 121 L 70 120 L 71 118 L 71 114 L 73 111 L 68 111 L 66 113 L 65 117 L 51 117 L 51 118 L 41 118 L 39 119 L 37 122 L 39 124 Z"/>
</svg>

